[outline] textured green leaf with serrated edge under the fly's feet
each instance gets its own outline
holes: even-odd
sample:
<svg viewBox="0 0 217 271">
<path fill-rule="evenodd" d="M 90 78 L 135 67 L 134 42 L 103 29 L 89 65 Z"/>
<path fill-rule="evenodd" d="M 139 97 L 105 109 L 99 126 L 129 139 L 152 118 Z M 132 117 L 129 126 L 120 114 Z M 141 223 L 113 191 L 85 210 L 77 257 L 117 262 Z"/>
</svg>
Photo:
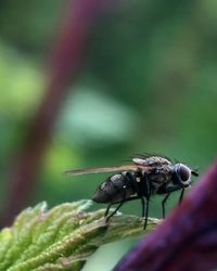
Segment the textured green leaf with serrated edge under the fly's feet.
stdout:
<svg viewBox="0 0 217 271">
<path fill-rule="evenodd" d="M 104 209 L 87 212 L 90 205 L 84 199 L 47 210 L 41 203 L 22 211 L 0 232 L 0 270 L 77 271 L 101 245 L 143 235 L 159 223 L 149 219 L 145 232 L 135 216 L 114 216 L 106 223 Z"/>
</svg>

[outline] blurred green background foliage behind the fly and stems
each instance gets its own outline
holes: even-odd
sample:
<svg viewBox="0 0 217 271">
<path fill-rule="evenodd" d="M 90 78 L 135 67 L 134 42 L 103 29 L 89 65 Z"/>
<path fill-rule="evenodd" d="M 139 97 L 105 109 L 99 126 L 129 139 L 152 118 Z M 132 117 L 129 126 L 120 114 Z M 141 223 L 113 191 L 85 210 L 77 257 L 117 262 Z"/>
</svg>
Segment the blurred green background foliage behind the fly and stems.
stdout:
<svg viewBox="0 0 217 271">
<path fill-rule="evenodd" d="M 66 179 L 61 175 L 66 169 L 122 165 L 148 152 L 203 172 L 216 158 L 217 1 L 119 3 L 91 36 L 82 70 L 56 119 L 31 205 L 91 198 L 106 178 Z M 44 65 L 65 4 L 0 1 L 1 212 L 13 157 L 43 95 Z M 167 210 L 177 198 L 175 193 Z M 151 216 L 161 217 L 161 201 L 153 198 Z M 93 206 L 100 207 L 105 206 Z M 140 202 L 122 210 L 140 215 Z M 111 270 L 135 242 L 102 247 L 85 270 Z"/>
</svg>

